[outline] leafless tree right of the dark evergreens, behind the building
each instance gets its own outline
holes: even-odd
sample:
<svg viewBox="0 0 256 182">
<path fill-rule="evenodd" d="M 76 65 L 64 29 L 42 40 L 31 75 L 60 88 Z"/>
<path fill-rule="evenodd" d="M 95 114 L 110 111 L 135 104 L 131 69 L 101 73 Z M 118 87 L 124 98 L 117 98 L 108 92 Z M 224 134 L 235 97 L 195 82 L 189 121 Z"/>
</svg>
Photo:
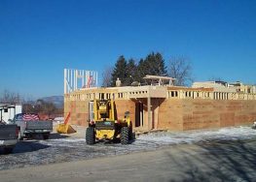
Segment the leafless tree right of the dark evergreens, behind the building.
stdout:
<svg viewBox="0 0 256 182">
<path fill-rule="evenodd" d="M 176 78 L 175 85 L 190 84 L 193 81 L 191 62 L 185 57 L 171 57 L 168 65 L 168 76 Z"/>
</svg>

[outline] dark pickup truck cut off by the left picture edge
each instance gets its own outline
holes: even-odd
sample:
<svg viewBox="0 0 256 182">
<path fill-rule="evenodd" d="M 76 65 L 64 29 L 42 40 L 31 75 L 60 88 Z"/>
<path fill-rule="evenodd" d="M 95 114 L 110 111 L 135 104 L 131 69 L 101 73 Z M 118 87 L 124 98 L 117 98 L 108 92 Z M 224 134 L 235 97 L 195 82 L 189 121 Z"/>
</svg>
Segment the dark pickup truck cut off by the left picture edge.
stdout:
<svg viewBox="0 0 256 182">
<path fill-rule="evenodd" d="M 18 142 L 18 126 L 7 125 L 0 121 L 0 147 L 6 154 L 12 153 Z"/>
</svg>

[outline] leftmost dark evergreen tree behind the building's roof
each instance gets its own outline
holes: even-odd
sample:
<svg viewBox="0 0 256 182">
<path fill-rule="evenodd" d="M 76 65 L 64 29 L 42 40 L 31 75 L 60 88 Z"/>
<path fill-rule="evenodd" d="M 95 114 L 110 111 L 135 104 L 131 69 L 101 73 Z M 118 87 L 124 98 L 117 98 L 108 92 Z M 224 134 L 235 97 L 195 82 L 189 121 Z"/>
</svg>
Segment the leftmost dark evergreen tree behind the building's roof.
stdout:
<svg viewBox="0 0 256 182">
<path fill-rule="evenodd" d="M 116 86 L 117 78 L 119 78 L 122 82 L 122 85 L 124 85 L 127 79 L 127 65 L 128 63 L 126 58 L 123 55 L 120 56 L 115 64 L 114 71 L 112 73 L 112 86 Z"/>
</svg>

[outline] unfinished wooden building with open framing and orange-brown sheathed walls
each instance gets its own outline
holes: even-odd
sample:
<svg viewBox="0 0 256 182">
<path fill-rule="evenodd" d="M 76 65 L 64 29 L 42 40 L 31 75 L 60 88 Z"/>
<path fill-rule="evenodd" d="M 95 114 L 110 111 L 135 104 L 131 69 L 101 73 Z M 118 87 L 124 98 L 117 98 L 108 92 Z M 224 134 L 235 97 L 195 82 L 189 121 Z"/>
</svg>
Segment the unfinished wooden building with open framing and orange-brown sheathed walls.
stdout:
<svg viewBox="0 0 256 182">
<path fill-rule="evenodd" d="M 87 126 L 92 114 L 91 101 L 113 99 L 118 118 L 129 111 L 137 131 L 220 128 L 252 124 L 256 120 L 253 85 L 207 81 L 180 87 L 173 85 L 171 77 L 144 78 L 149 85 L 102 88 L 97 87 L 95 72 L 65 70 L 64 114 L 71 113 L 70 124 Z"/>
</svg>

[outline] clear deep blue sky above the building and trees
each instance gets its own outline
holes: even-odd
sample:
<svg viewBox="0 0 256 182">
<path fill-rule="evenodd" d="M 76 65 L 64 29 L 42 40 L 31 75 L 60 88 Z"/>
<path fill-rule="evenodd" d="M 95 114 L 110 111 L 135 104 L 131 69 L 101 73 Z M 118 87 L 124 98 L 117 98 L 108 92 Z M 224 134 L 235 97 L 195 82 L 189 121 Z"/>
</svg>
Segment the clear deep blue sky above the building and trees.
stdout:
<svg viewBox="0 0 256 182">
<path fill-rule="evenodd" d="M 0 0 L 0 93 L 62 95 L 64 68 L 101 76 L 151 51 L 188 57 L 196 80 L 254 84 L 256 1 Z"/>
</svg>

